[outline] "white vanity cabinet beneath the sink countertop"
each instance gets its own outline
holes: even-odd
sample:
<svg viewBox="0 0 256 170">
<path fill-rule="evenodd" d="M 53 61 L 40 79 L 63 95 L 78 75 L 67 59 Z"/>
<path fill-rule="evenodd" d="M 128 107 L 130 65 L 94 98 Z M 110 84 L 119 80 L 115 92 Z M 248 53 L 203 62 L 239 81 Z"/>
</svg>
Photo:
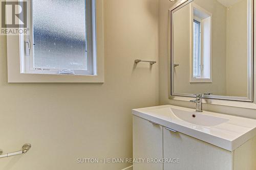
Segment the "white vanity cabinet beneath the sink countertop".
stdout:
<svg viewBox="0 0 256 170">
<path fill-rule="evenodd" d="M 134 115 L 133 154 L 145 159 L 134 170 L 255 170 L 256 137 L 228 151 Z M 179 162 L 147 163 L 148 158 Z"/>
</svg>

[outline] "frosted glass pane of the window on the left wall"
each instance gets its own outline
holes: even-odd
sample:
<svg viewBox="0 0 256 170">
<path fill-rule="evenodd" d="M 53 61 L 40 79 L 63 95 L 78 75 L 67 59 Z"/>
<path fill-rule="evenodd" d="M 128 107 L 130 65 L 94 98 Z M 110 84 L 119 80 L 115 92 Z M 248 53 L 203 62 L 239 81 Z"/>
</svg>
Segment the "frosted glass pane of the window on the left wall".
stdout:
<svg viewBox="0 0 256 170">
<path fill-rule="evenodd" d="M 33 0 L 34 67 L 87 70 L 85 0 Z"/>
</svg>

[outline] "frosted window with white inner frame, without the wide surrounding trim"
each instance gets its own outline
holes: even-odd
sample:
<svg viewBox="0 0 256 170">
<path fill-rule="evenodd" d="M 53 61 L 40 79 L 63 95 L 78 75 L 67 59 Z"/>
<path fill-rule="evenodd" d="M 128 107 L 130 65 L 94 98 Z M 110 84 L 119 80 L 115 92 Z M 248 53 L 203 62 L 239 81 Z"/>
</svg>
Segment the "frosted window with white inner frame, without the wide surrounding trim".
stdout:
<svg viewBox="0 0 256 170">
<path fill-rule="evenodd" d="M 93 2 L 33 0 L 22 73 L 96 75 Z"/>
</svg>

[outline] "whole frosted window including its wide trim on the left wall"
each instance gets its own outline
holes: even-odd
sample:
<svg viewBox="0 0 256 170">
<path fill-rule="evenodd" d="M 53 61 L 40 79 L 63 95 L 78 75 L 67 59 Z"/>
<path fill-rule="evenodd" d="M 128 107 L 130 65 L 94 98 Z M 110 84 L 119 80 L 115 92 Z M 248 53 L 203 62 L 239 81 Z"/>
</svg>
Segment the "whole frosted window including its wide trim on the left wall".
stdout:
<svg viewBox="0 0 256 170">
<path fill-rule="evenodd" d="M 29 34 L 7 35 L 8 82 L 103 83 L 103 0 L 27 2 Z"/>
</svg>

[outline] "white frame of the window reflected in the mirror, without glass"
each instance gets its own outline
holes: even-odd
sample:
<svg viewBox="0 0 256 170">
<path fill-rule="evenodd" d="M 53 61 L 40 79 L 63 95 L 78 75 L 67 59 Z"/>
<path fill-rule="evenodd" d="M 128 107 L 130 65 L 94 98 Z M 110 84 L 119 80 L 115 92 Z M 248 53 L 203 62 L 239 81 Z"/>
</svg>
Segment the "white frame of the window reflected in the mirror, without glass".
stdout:
<svg viewBox="0 0 256 170">
<path fill-rule="evenodd" d="M 204 33 L 203 33 L 203 23 L 202 23 L 202 20 L 198 17 L 196 17 L 194 15 L 194 8 L 197 9 L 198 11 L 200 12 L 203 12 L 205 14 L 207 14 L 208 16 L 210 16 L 210 28 L 209 28 L 209 32 L 210 32 L 210 35 L 209 35 L 209 63 L 207 63 L 209 65 L 209 78 L 204 78 L 203 75 L 204 75 L 204 71 L 205 71 L 205 68 L 204 68 L 204 65 L 206 63 L 204 63 L 204 46 L 203 46 L 203 38 L 204 38 Z M 197 4 L 195 3 L 191 3 L 190 4 L 190 20 L 191 20 L 191 25 L 190 25 L 190 83 L 211 83 L 212 82 L 212 59 L 211 59 L 211 50 L 212 50 L 212 14 L 208 11 L 206 11 L 205 9 L 203 9 L 202 7 L 198 6 Z M 201 23 L 201 57 L 200 57 L 200 70 L 201 70 L 201 76 L 200 77 L 194 77 L 194 20 L 197 20 Z"/>
</svg>

